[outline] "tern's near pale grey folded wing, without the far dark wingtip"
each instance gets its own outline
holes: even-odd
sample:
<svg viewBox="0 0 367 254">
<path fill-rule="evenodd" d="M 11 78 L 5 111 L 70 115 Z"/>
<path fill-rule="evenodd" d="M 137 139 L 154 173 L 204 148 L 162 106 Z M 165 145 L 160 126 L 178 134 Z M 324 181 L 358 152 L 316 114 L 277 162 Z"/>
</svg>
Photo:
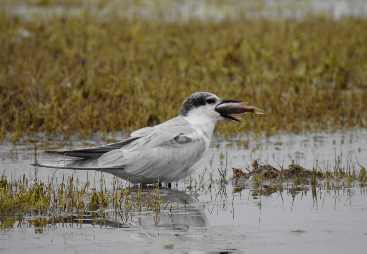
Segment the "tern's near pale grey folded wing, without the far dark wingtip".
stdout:
<svg viewBox="0 0 367 254">
<path fill-rule="evenodd" d="M 174 118 L 177 119 L 177 118 Z M 173 120 L 173 119 L 172 119 Z M 105 154 L 75 161 L 71 168 L 124 168 L 130 174 L 166 178 L 188 170 L 198 162 L 210 140 L 178 118 L 157 125 L 153 132 Z"/>
</svg>

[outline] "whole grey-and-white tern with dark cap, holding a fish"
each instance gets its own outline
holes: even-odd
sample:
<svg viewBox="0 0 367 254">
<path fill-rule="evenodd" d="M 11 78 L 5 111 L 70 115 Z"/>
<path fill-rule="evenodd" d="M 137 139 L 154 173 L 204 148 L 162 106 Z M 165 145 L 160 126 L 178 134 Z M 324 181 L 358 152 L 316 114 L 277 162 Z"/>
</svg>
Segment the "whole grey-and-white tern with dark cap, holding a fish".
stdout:
<svg viewBox="0 0 367 254">
<path fill-rule="evenodd" d="M 126 140 L 73 151 L 45 151 L 62 160 L 35 163 L 46 168 L 86 169 L 108 172 L 131 183 L 172 182 L 190 176 L 208 151 L 215 123 L 232 114 L 265 114 L 240 100 L 226 100 L 209 92 L 190 95 L 179 115 L 162 124 L 144 127 Z"/>
</svg>

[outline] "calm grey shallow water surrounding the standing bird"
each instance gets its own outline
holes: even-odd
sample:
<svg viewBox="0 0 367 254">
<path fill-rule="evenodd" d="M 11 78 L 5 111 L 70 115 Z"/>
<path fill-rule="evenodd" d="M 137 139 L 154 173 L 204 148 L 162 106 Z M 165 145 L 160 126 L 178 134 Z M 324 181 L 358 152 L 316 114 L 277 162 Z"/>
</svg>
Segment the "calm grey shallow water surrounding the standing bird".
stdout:
<svg viewBox="0 0 367 254">
<path fill-rule="evenodd" d="M 109 137 L 122 139 L 123 137 Z M 34 139 L 17 143 L 0 144 L 0 168 L 6 169 L 11 178 L 25 174 L 27 179 L 46 180 L 54 173 L 52 169 L 35 169 Z M 185 188 L 188 180 L 179 181 L 177 189 L 162 188 L 166 197 L 177 195 L 177 202 L 171 209 L 161 210 L 159 216 L 152 212 L 136 213 L 125 220 L 119 211 L 105 211 L 101 223 L 83 224 L 57 223 L 50 228 L 29 227 L 27 221 L 37 217 L 23 218 L 13 228 L 0 230 L 1 253 L 38 253 L 52 251 L 61 253 L 73 250 L 75 253 L 102 251 L 132 253 L 361 253 L 367 238 L 367 189 L 358 183 L 335 182 L 340 189 L 327 185 L 316 186 L 315 194 L 309 185 L 301 191 L 292 192 L 284 188 L 269 195 L 254 195 L 258 187 L 243 184 L 233 193 L 228 173 L 228 184 L 200 188 L 199 178 L 205 168 L 213 179 L 219 179 L 218 168 L 228 167 L 251 169 L 253 159 L 279 165 L 295 163 L 307 169 L 317 166 L 320 170 L 333 169 L 335 158 L 345 169 L 356 170 L 367 165 L 367 131 L 338 131 L 304 135 L 279 135 L 270 137 L 216 136 L 209 153 L 200 168 L 192 176 L 194 188 Z M 39 161 L 50 159 L 43 150 L 72 149 L 96 146 L 105 142 L 98 136 L 86 141 L 57 141 L 54 138 L 39 138 L 36 155 Z M 224 157 L 220 158 L 223 154 Z M 339 157 L 339 158 L 338 158 Z M 328 166 L 329 165 L 329 166 Z M 333 171 L 333 170 L 332 170 Z M 58 170 L 55 177 L 73 174 L 80 182 L 87 180 L 83 170 Z M 89 180 L 98 183 L 101 173 L 88 172 Z M 103 174 L 106 188 L 112 188 L 113 177 Z M 196 182 L 196 184 L 195 184 Z M 125 184 L 121 181 L 121 184 Z M 344 187 L 343 187 L 344 184 Z M 196 185 L 196 187 L 195 187 Z M 182 199 L 186 199 L 182 202 Z M 181 201 L 179 201 L 181 200 Z M 261 202 L 261 205 L 259 205 Z M 19 244 L 22 243 L 22 244 Z"/>
</svg>

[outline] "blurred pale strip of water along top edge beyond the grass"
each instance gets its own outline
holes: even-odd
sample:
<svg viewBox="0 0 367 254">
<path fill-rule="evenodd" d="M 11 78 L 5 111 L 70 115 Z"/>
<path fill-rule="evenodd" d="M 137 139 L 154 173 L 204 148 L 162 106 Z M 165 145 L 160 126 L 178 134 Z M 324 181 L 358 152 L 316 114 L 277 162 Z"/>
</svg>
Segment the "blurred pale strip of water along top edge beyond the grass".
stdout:
<svg viewBox="0 0 367 254">
<path fill-rule="evenodd" d="M 344 16 L 363 17 L 367 15 L 365 0 L 257 0 L 257 1 L 106 1 L 77 5 L 66 3 L 56 5 L 25 4 L 23 2 L 5 3 L 6 12 L 14 12 L 23 18 L 41 15 L 47 18 L 53 15 L 80 15 L 87 10 L 108 17 L 110 13 L 121 16 L 140 16 L 147 19 L 163 19 L 166 22 L 188 21 L 191 18 L 220 21 L 246 15 L 251 18 L 302 18 L 308 14 L 326 14 L 334 19 Z M 117 12 L 116 12 L 117 11 Z"/>
</svg>

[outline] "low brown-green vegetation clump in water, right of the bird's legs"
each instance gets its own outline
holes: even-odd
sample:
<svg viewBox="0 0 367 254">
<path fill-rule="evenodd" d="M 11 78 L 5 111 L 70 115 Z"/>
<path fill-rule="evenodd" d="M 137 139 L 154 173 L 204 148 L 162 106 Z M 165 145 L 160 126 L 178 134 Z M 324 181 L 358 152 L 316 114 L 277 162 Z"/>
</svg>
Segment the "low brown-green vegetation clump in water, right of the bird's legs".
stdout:
<svg viewBox="0 0 367 254">
<path fill-rule="evenodd" d="M 316 186 L 323 186 L 325 189 L 340 189 L 352 186 L 364 188 L 366 187 L 367 174 L 365 168 L 359 166 L 360 169 L 357 169 L 356 165 L 349 165 L 344 168 L 336 163 L 333 169 L 319 170 L 320 168 L 316 165 L 312 170 L 309 170 L 292 161 L 288 168 L 276 169 L 273 166 L 254 160 L 252 169 L 247 169 L 247 172 L 232 168 L 232 180 L 236 186 L 235 191 L 240 191 L 249 184 L 261 187 L 261 189 L 255 189 L 253 192 L 255 196 L 258 194 L 270 195 L 273 192 L 282 191 L 283 188 L 287 188 L 288 191 L 294 193 L 307 190 L 309 187 L 313 189 L 313 193 L 316 193 L 314 191 Z"/>
</svg>

